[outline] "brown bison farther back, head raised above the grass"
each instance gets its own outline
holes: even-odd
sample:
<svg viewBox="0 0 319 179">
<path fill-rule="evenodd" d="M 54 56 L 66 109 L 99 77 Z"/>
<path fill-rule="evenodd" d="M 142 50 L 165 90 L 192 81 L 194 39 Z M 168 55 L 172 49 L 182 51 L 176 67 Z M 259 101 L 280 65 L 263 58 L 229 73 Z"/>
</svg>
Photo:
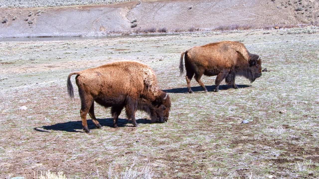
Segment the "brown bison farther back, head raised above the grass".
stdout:
<svg viewBox="0 0 319 179">
<path fill-rule="evenodd" d="M 206 44 L 200 47 L 193 47 L 181 54 L 180 72 L 184 73 L 183 56 L 185 59 L 186 82 L 188 92 L 193 91 L 190 88 L 190 80 L 195 74 L 195 80 L 201 85 L 204 91 L 207 89 L 200 80 L 202 75 L 214 76 L 215 92 L 219 91 L 219 84 L 225 78 L 228 85 L 235 89 L 235 76 L 240 75 L 254 82 L 261 74 L 261 59 L 259 55 L 250 54 L 244 44 L 236 41 L 221 41 Z"/>
</svg>

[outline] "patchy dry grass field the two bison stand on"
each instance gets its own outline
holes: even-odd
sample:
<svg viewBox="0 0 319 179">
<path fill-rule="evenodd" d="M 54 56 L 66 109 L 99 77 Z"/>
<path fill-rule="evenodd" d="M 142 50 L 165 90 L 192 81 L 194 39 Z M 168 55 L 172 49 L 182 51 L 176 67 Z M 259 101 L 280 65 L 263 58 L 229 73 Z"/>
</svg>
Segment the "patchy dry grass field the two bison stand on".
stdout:
<svg viewBox="0 0 319 179">
<path fill-rule="evenodd" d="M 312 34 L 308 34 L 312 33 Z M 262 77 L 240 89 L 203 76 L 204 93 L 179 76 L 181 52 L 221 40 L 243 42 L 263 60 Z M 68 98 L 67 75 L 111 61 L 136 60 L 157 74 L 172 98 L 170 118 L 138 127 L 123 112 L 113 128 L 110 110 L 96 105 L 102 125 L 83 133 L 80 100 Z M 72 83 L 77 90 L 72 78 Z M 166 37 L 0 42 L 0 178 L 108 178 L 148 166 L 154 178 L 259 179 L 319 177 L 318 28 L 193 33 Z M 224 83 L 223 83 L 224 84 Z M 21 109 L 26 106 L 27 109 Z M 88 116 L 89 118 L 89 116 Z M 242 124 L 242 120 L 250 121 Z M 145 169 L 145 168 L 144 168 Z M 147 169 L 147 168 L 146 168 Z"/>
</svg>

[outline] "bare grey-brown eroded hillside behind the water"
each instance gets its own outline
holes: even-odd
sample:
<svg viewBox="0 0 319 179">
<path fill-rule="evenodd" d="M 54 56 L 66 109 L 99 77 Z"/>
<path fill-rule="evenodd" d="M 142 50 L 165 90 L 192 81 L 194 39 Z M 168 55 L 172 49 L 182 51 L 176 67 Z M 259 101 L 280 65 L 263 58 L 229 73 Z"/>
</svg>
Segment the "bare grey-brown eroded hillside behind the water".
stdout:
<svg viewBox="0 0 319 179">
<path fill-rule="evenodd" d="M 319 22 L 319 3 L 314 0 L 144 0 L 50 8 L 1 8 L 0 12 L 0 37 L 211 31 Z M 136 22 L 131 23 L 134 20 Z M 132 25 L 136 27 L 131 28 Z"/>
</svg>

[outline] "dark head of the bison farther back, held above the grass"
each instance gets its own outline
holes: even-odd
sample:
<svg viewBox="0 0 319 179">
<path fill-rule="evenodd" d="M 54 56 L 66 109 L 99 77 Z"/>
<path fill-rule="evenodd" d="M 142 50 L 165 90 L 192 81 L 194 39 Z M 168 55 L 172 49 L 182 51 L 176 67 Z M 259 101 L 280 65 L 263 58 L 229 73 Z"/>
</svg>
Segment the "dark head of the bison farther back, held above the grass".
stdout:
<svg viewBox="0 0 319 179">
<path fill-rule="evenodd" d="M 249 80 L 254 82 L 261 74 L 261 59 L 259 55 L 250 54 L 249 58 Z"/>
</svg>

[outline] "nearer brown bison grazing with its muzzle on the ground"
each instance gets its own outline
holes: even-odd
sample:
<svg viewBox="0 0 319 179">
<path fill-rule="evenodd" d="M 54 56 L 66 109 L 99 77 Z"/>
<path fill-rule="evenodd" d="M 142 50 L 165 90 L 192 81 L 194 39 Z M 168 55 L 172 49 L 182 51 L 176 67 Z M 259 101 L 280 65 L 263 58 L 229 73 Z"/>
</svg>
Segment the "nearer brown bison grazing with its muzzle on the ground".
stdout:
<svg viewBox="0 0 319 179">
<path fill-rule="evenodd" d="M 70 98 L 74 98 L 73 87 L 70 81 L 72 75 L 81 98 L 80 115 L 85 132 L 91 132 L 86 123 L 89 113 L 97 128 L 101 128 L 94 115 L 94 101 L 98 104 L 111 107 L 114 127 L 117 119 L 125 107 L 128 119 L 136 127 L 135 112 L 146 111 L 151 122 L 166 122 L 171 108 L 169 95 L 159 90 L 156 76 L 151 68 L 136 61 L 119 61 L 106 65 L 89 68 L 70 73 L 67 79 L 67 88 Z"/>
</svg>

